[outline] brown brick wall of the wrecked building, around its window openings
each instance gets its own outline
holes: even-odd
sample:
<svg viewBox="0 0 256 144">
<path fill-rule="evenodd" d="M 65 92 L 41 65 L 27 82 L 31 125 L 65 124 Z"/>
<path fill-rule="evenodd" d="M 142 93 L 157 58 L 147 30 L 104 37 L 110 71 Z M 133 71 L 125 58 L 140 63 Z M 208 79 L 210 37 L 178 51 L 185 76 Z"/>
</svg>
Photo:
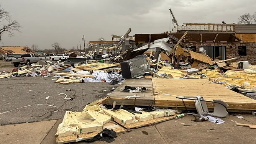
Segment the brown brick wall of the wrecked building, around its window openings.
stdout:
<svg viewBox="0 0 256 144">
<path fill-rule="evenodd" d="M 249 64 L 256 65 L 256 43 L 184 43 L 184 46 L 196 46 L 196 52 L 202 46 L 226 46 L 226 59 L 237 57 L 232 61 L 248 61 Z M 238 56 L 238 46 L 246 46 L 246 56 Z"/>
</svg>

